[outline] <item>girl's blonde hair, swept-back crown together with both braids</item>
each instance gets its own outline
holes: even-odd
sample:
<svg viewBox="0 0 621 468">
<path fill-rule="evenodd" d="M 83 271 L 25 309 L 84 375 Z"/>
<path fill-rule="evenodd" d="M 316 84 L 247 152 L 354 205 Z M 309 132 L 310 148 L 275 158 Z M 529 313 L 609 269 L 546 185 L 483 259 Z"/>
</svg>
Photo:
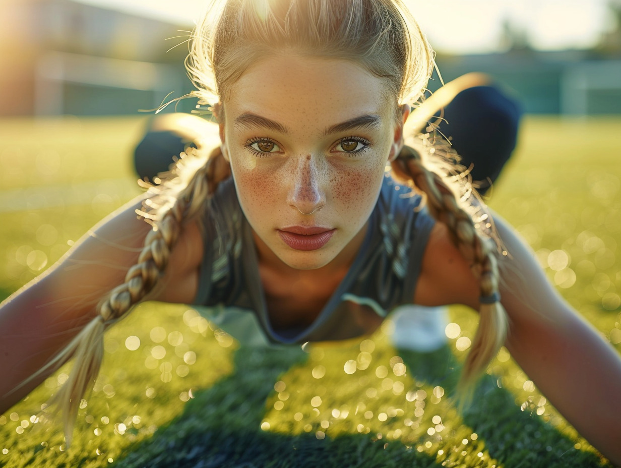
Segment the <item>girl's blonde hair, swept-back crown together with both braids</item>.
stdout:
<svg viewBox="0 0 621 468">
<path fill-rule="evenodd" d="M 232 83 L 245 70 L 270 54 L 293 51 L 359 63 L 386 81 L 397 103 L 414 104 L 425 91 L 434 62 L 433 52 L 400 0 L 228 0 L 218 1 L 197 25 L 186 60 L 199 104 L 225 101 Z M 438 151 L 438 153 L 440 153 Z M 433 155 L 428 148 L 425 157 Z M 463 208 L 468 204 L 465 178 L 430 170 L 420 152 L 409 147 L 392 163 L 397 175 L 424 192 L 430 213 L 445 223 L 455 244 L 479 278 L 480 322 L 462 374 L 468 387 L 504 342 L 507 319 L 499 303 L 494 242 L 477 229 Z M 183 155 L 168 178 L 153 187 L 140 215 L 153 224 L 138 263 L 125 282 L 97 306 L 97 318 L 40 372 L 56 369 L 75 357 L 70 378 L 55 395 L 70 441 L 79 402 L 91 387 L 102 360 L 104 329 L 127 314 L 155 287 L 166 267 L 183 223 L 204 209 L 230 168 L 219 149 Z"/>
</svg>

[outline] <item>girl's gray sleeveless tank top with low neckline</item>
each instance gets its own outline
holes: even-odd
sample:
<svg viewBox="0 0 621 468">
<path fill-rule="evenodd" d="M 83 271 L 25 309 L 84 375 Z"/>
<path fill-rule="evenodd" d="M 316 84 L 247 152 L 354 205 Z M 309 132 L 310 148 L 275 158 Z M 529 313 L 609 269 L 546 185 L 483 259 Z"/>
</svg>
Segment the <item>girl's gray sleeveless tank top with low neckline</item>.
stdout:
<svg viewBox="0 0 621 468">
<path fill-rule="evenodd" d="M 244 345 L 348 339 L 373 333 L 386 314 L 412 303 L 434 220 L 421 197 L 387 174 L 351 267 L 315 321 L 274 329 L 259 275 L 252 228 L 232 179 L 202 218 L 204 258 L 193 307 Z"/>
</svg>

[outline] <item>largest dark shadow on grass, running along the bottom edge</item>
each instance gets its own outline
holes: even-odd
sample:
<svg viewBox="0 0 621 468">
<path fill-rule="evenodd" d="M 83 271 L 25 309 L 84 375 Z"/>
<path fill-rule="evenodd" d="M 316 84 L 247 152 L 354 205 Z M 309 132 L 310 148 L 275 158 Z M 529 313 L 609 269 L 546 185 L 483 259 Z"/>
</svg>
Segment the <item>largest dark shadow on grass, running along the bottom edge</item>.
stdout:
<svg viewBox="0 0 621 468">
<path fill-rule="evenodd" d="M 384 448 L 370 435 L 318 440 L 314 433 L 261 431 L 265 401 L 274 382 L 306 359 L 299 349 L 239 349 L 235 372 L 188 402 L 183 415 L 152 439 L 131 447 L 118 466 L 148 467 L 438 467 L 435 458 L 406 449 Z M 235 389 L 234 392 L 231 390 Z M 387 464 L 386 460 L 390 462 Z"/>
</svg>

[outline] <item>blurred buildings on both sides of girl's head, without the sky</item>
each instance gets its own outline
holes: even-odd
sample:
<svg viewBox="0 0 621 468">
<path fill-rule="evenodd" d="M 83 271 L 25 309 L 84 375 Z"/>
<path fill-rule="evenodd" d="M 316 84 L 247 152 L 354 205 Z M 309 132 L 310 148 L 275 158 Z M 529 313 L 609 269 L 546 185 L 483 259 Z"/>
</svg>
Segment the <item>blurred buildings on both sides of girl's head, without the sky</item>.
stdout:
<svg viewBox="0 0 621 468">
<path fill-rule="evenodd" d="M 183 68 L 188 48 L 179 37 L 190 28 L 78 0 L 0 0 L 0 115 L 156 108 L 168 93 L 173 98 L 192 89 Z M 603 52 L 537 52 L 513 37 L 508 53 L 443 56 L 438 65 L 445 81 L 468 71 L 488 73 L 517 94 L 526 112 L 616 114 L 620 31 L 603 39 Z M 179 109 L 193 104 L 182 101 Z"/>
</svg>

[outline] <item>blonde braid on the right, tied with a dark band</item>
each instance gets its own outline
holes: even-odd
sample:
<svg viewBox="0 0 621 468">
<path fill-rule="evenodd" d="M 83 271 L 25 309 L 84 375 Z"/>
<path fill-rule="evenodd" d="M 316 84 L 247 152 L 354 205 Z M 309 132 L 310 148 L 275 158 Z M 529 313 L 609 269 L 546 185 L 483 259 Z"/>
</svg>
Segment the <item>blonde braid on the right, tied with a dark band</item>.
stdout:
<svg viewBox="0 0 621 468">
<path fill-rule="evenodd" d="M 479 326 L 466 357 L 459 386 L 467 398 L 477 377 L 504 344 L 508 322 L 499 294 L 496 259 L 499 240 L 492 231 L 493 226 L 488 215 L 481 214 L 482 203 L 479 203 L 476 194 L 471 190 L 467 176 L 455 173 L 455 166 L 451 163 L 458 160 L 458 156 L 451 152 L 450 146 L 442 140 L 433 144 L 429 155 L 433 154 L 438 167 L 432 171 L 425 167 L 420 152 L 404 147 L 392 162 L 392 169 L 398 177 L 412 181 L 415 188 L 424 194 L 430 213 L 448 226 L 453 242 L 471 264 L 475 277 L 479 279 Z M 460 206 L 467 201 L 474 207 L 472 214 Z M 480 228 L 481 225 L 487 231 Z"/>
</svg>

